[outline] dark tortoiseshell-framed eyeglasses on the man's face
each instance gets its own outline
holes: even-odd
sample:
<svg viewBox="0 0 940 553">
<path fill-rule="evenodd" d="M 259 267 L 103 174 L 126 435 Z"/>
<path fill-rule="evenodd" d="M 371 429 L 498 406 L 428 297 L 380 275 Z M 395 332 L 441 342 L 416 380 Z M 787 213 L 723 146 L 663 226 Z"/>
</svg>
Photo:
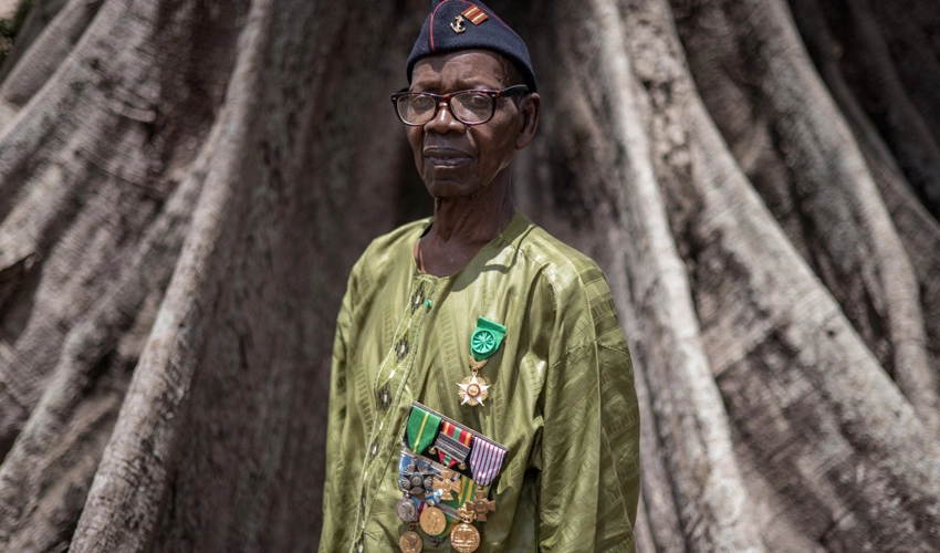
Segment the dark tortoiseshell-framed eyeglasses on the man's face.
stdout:
<svg viewBox="0 0 940 553">
<path fill-rule="evenodd" d="M 493 118 L 497 100 L 512 94 L 524 94 L 529 86 L 516 84 L 501 91 L 459 91 L 450 94 L 431 92 L 396 92 L 391 95 L 395 112 L 401 123 L 410 126 L 427 124 L 437 116 L 440 105 L 447 104 L 453 118 L 464 125 L 480 125 Z"/>
</svg>

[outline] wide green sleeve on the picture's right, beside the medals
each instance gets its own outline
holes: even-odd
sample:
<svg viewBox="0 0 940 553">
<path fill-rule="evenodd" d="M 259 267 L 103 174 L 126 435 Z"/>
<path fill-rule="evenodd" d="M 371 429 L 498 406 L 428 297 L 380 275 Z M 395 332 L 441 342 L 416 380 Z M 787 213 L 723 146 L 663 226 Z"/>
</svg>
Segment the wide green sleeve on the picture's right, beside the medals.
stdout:
<svg viewBox="0 0 940 553">
<path fill-rule="evenodd" d="M 560 310 L 553 342 L 562 353 L 546 375 L 540 551 L 634 552 L 639 408 L 633 364 L 599 269 L 582 281 Z"/>
</svg>

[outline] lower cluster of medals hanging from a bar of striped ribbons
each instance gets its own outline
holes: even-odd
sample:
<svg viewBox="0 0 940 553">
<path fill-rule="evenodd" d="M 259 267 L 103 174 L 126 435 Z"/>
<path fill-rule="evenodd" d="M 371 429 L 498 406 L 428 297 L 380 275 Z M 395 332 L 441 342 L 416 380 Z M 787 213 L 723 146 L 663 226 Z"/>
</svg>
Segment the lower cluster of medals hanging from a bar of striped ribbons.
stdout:
<svg viewBox="0 0 940 553">
<path fill-rule="evenodd" d="M 416 451 L 437 456 L 440 462 Z M 459 553 L 477 551 L 480 531 L 473 524 L 485 522 L 497 510 L 488 495 L 505 453 L 503 446 L 420 404 L 412 405 L 398 466 L 403 497 L 396 512 L 408 524 L 398 540 L 401 551 L 424 549 L 418 528 L 434 544 L 449 539 Z"/>
</svg>

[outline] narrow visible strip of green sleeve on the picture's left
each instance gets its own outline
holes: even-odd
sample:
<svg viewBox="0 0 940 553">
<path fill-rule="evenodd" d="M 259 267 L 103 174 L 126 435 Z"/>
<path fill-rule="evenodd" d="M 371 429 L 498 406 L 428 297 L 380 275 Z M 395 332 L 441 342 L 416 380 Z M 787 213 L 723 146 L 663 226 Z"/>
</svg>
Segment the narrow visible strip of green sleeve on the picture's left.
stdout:
<svg viewBox="0 0 940 553">
<path fill-rule="evenodd" d="M 333 340 L 330 400 L 326 420 L 326 474 L 323 481 L 323 532 L 321 534 L 321 551 L 326 551 L 324 546 L 335 542 L 331 536 L 341 533 L 342 529 L 336 526 L 337 524 L 342 524 L 342 518 L 344 517 L 341 502 L 338 501 L 340 498 L 337 498 L 340 491 L 336 488 L 336 472 L 340 463 L 331 460 L 338 459 L 341 455 L 343 427 L 346 424 L 348 403 L 346 365 L 349 352 L 348 341 L 353 325 L 353 298 L 356 289 L 355 274 L 356 268 L 353 269 L 346 286 L 346 293 L 343 296 L 340 315 L 336 319 L 336 334 Z"/>
</svg>

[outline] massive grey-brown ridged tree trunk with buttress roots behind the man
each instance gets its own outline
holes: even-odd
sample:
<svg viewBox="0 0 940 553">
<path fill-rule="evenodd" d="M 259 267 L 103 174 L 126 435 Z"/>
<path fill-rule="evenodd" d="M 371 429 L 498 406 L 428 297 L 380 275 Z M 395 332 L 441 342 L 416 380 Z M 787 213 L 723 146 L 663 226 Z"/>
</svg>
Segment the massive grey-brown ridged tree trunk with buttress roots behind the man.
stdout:
<svg viewBox="0 0 940 553">
<path fill-rule="evenodd" d="M 492 0 L 605 270 L 638 550 L 940 543 L 940 4 Z M 311 551 L 333 324 L 429 215 L 426 0 L 35 0 L 0 67 L 0 551 Z"/>
</svg>

